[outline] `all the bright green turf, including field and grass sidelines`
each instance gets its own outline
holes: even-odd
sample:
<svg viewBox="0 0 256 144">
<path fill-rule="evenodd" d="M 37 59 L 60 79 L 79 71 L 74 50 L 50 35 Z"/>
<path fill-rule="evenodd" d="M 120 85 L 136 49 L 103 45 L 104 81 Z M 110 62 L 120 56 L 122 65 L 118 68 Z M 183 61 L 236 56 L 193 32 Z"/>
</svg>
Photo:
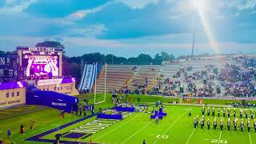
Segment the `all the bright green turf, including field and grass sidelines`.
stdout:
<svg viewBox="0 0 256 144">
<path fill-rule="evenodd" d="M 132 96 L 134 102 L 138 103 L 136 98 L 138 96 Z M 150 97 L 150 96 L 139 96 L 141 97 L 141 102 L 155 102 L 157 100 L 162 100 L 163 102 L 171 101 L 170 99 L 162 97 Z M 89 102 L 93 101 L 91 95 L 79 96 L 82 98 L 90 98 Z M 168 102 L 167 102 L 168 103 Z M 218 103 L 219 104 L 219 103 Z M 98 104 L 95 110 L 98 110 L 98 107 L 101 106 L 103 109 L 107 107 L 112 107 L 110 96 L 107 97 L 107 101 L 104 103 Z M 102 122 L 103 124 L 111 123 L 110 126 L 106 126 L 99 130 L 95 134 L 91 134 L 89 137 L 84 138 L 61 138 L 61 140 L 72 141 L 72 142 L 98 142 L 98 143 L 142 143 L 143 139 L 146 140 L 146 143 L 191 143 L 191 144 L 210 144 L 210 143 L 256 143 L 256 133 L 254 133 L 253 121 L 251 120 L 251 130 L 250 133 L 246 129 L 246 120 L 245 130 L 241 132 L 240 130 L 234 131 L 233 128 L 233 118 L 231 118 L 231 130 L 226 130 L 226 119 L 224 130 L 220 130 L 218 118 L 218 128 L 213 130 L 214 118 L 210 116 L 211 128 L 210 130 L 206 129 L 206 126 L 201 128 L 194 129 L 194 117 L 199 116 L 199 120 L 202 118 L 201 106 L 166 106 L 167 116 L 159 121 L 159 124 L 156 125 L 154 120 L 150 120 L 150 114 L 137 112 L 130 114 L 122 121 L 118 122 Z M 27 108 L 27 107 L 25 107 Z M 24 108 L 24 109 L 25 109 Z M 33 109 L 33 106 L 30 107 Z M 189 110 L 192 110 L 192 116 L 188 116 Z M 72 114 L 66 114 L 66 118 L 63 120 L 59 117 L 59 111 L 53 109 L 43 109 L 43 110 L 30 110 L 30 113 L 24 114 L 14 114 L 13 117 L 10 115 L 11 109 L 6 110 L 8 117 L 0 118 L 0 130 L 2 131 L 1 138 L 4 142 L 14 142 L 14 143 L 46 143 L 46 142 L 26 142 L 24 139 L 30 138 L 36 134 L 45 132 L 46 130 L 53 129 L 55 127 L 64 125 L 68 122 L 73 122 L 80 117 L 76 117 Z M 14 109 L 13 111 L 17 111 Z M 216 110 L 217 111 L 217 110 Z M 238 110 L 237 110 L 238 112 Z M 255 112 L 255 110 L 254 110 Z M 5 111 L 2 110 L 2 114 Z M 215 112 L 216 113 L 216 112 Z M 217 113 L 216 113 L 217 114 Z M 128 115 L 128 114 L 127 114 Z M 232 110 L 231 110 L 231 115 Z M 237 113 L 238 115 L 238 113 Z M 255 117 L 255 116 L 254 116 Z M 207 120 L 208 117 L 206 117 Z M 30 120 L 35 120 L 34 130 L 29 130 Z M 61 134 L 70 134 L 72 130 L 79 128 L 79 126 L 86 126 L 96 120 L 96 117 L 88 118 L 82 122 L 78 122 L 72 126 L 68 126 L 59 132 Z M 18 130 L 20 124 L 25 125 L 25 135 L 19 135 Z M 238 121 L 238 125 L 240 120 Z M 12 131 L 12 138 L 6 138 L 6 130 L 10 129 Z M 90 127 L 86 127 L 91 129 Z M 80 132 L 78 132 L 80 133 Z M 85 132 L 88 134 L 87 132 Z M 53 139 L 56 133 L 51 133 L 44 136 L 42 139 Z"/>
</svg>

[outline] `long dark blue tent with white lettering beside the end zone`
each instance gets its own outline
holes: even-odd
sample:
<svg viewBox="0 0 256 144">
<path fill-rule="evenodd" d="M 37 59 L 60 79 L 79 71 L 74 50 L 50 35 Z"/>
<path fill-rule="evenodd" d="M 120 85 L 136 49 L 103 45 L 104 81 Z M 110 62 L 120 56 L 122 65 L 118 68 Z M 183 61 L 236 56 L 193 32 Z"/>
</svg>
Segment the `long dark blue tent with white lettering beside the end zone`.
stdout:
<svg viewBox="0 0 256 144">
<path fill-rule="evenodd" d="M 67 113 L 78 110 L 78 98 L 54 91 L 27 90 L 26 104 L 49 106 Z"/>
</svg>

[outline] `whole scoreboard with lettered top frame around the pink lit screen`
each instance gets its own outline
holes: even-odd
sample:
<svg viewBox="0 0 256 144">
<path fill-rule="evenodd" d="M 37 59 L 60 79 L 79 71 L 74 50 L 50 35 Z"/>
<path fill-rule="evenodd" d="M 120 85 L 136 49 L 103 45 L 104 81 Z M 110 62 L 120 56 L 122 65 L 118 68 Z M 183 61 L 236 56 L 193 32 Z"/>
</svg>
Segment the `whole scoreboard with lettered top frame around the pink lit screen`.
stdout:
<svg viewBox="0 0 256 144">
<path fill-rule="evenodd" d="M 62 48 L 18 46 L 17 52 L 25 78 L 62 77 Z"/>
</svg>

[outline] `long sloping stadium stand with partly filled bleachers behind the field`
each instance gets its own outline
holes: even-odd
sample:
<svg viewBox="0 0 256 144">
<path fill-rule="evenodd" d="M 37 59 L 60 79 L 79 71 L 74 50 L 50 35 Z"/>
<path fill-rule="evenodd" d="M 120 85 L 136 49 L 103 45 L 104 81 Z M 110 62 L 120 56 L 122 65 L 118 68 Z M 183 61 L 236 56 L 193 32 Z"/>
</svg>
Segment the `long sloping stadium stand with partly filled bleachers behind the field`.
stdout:
<svg viewBox="0 0 256 144">
<path fill-rule="evenodd" d="M 162 65 L 107 65 L 98 74 L 97 93 L 105 90 L 106 68 L 107 93 L 252 96 L 255 78 L 246 67 L 254 63 L 251 58 L 213 56 L 162 62 Z"/>
</svg>

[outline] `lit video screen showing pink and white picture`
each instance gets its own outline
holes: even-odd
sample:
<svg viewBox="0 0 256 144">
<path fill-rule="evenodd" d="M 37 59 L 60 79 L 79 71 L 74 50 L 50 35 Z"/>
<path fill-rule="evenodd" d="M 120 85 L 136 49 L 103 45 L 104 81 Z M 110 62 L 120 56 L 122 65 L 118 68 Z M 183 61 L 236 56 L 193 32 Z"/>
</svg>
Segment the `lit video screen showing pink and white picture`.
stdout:
<svg viewBox="0 0 256 144">
<path fill-rule="evenodd" d="M 24 55 L 22 66 L 26 66 L 26 76 L 58 76 L 58 56 Z"/>
</svg>

